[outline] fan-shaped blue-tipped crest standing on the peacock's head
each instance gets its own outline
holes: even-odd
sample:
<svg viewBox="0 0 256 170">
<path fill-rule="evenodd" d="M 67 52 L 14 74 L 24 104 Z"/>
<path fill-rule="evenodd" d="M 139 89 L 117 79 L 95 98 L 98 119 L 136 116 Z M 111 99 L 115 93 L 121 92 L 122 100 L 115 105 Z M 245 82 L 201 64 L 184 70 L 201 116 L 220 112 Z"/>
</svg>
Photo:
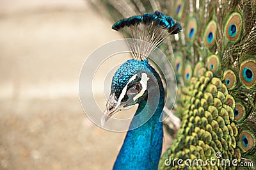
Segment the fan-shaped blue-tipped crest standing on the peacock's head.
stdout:
<svg viewBox="0 0 256 170">
<path fill-rule="evenodd" d="M 132 38 L 147 42 L 138 45 L 138 42 L 134 40 L 132 44 L 129 44 L 132 57 L 138 61 L 143 61 L 169 35 L 179 33 L 182 27 L 172 17 L 156 11 L 153 14 L 144 13 L 119 20 L 113 24 L 112 29 L 125 31 L 132 35 Z"/>
</svg>

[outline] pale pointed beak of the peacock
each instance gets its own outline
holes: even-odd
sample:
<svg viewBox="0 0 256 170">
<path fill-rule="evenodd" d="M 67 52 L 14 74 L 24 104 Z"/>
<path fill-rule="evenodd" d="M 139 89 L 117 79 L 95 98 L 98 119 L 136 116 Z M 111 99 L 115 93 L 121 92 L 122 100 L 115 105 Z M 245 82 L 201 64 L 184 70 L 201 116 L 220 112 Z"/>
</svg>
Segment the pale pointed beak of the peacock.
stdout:
<svg viewBox="0 0 256 170">
<path fill-rule="evenodd" d="M 101 118 L 102 127 L 104 126 L 106 121 L 108 121 L 109 118 L 111 118 L 111 116 L 113 116 L 116 112 L 122 110 L 124 106 L 125 106 L 125 103 L 120 104 L 120 102 L 115 100 L 115 94 L 110 95 L 106 105 L 106 109 Z"/>
</svg>

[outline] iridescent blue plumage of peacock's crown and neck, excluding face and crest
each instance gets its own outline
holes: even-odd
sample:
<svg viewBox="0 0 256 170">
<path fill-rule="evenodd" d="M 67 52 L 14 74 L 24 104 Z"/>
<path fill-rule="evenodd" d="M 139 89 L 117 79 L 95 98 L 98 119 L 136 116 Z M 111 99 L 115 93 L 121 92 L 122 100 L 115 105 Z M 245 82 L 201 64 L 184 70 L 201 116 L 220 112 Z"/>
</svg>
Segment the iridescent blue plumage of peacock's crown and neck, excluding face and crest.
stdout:
<svg viewBox="0 0 256 170">
<path fill-rule="evenodd" d="M 141 80 L 141 73 L 146 73 L 148 77 L 147 92 L 136 102 L 139 106 L 134 116 L 140 114 L 141 117 L 132 120 L 130 125 L 132 130 L 127 132 L 113 169 L 157 169 L 161 156 L 163 123 L 159 120 L 164 107 L 164 89 L 158 73 L 148 64 L 148 60 L 131 59 L 120 66 L 113 77 L 111 93 L 116 93 L 117 97 L 120 97 L 129 79 L 137 74 L 138 77 L 131 82 L 134 84 Z M 148 101 L 148 93 L 154 95 L 151 101 Z M 154 108 L 154 105 L 157 107 Z M 148 120 L 151 115 L 152 117 Z M 147 123 L 143 124 L 145 121 Z M 133 129 L 138 125 L 141 126 Z"/>
</svg>

